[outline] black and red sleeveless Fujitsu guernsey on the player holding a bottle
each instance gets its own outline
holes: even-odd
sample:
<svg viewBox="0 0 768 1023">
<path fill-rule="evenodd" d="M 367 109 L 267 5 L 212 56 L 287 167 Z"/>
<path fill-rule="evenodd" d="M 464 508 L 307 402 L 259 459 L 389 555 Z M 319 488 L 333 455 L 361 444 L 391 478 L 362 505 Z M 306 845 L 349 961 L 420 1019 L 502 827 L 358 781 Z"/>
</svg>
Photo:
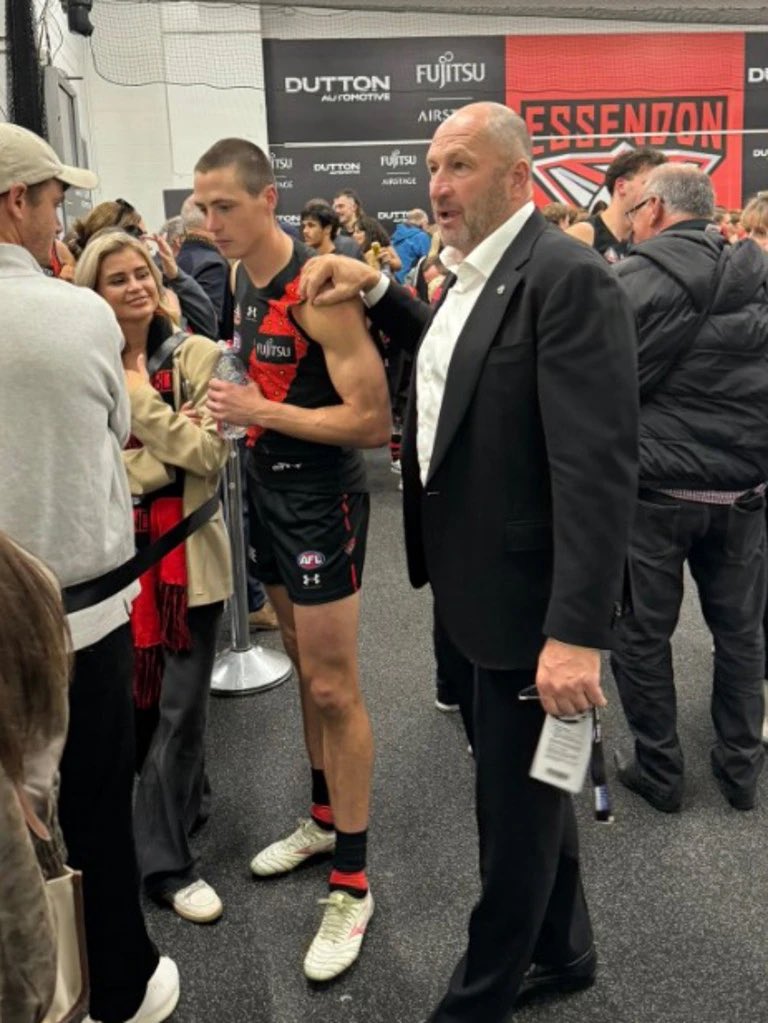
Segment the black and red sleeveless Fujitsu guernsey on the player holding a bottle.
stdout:
<svg viewBox="0 0 768 1023">
<path fill-rule="evenodd" d="M 341 404 L 322 347 L 290 315 L 299 276 L 314 250 L 293 241 L 288 264 L 265 287 L 256 287 L 240 264 L 235 279 L 234 347 L 270 401 L 302 408 Z M 314 444 L 263 427 L 250 427 L 250 471 L 266 487 L 343 493 L 366 490 L 362 455 L 354 448 Z"/>
</svg>

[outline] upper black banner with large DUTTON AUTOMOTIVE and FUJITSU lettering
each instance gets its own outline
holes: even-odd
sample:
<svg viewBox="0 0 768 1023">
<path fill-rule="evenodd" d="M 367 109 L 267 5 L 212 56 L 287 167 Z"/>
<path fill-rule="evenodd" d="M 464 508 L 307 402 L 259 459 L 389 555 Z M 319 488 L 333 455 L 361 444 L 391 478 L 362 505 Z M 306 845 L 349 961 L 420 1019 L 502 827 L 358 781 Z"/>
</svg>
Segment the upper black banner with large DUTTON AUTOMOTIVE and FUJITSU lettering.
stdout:
<svg viewBox="0 0 768 1023">
<path fill-rule="evenodd" d="M 459 106 L 504 101 L 504 39 L 264 40 L 273 142 L 432 138 Z"/>
</svg>

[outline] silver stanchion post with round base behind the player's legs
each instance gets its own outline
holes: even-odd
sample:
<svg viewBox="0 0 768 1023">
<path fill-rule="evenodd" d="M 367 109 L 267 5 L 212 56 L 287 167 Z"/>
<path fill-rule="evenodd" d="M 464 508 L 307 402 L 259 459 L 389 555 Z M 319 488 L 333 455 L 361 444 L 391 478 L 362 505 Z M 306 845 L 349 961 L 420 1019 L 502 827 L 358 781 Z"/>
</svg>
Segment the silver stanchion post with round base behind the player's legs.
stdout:
<svg viewBox="0 0 768 1023">
<path fill-rule="evenodd" d="M 223 490 L 224 515 L 232 549 L 233 592 L 229 602 L 232 646 L 216 658 L 211 692 L 218 696 L 250 696 L 284 682 L 290 677 L 292 665 L 285 654 L 251 643 L 242 532 L 242 474 L 240 450 L 234 440 L 229 442 Z"/>
</svg>

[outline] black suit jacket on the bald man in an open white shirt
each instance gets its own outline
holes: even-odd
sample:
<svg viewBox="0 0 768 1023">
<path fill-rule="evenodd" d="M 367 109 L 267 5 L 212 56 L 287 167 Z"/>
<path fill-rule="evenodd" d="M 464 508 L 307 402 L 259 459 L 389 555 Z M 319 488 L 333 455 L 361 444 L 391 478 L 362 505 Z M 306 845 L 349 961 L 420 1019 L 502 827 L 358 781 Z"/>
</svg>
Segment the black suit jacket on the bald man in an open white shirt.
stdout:
<svg viewBox="0 0 768 1023">
<path fill-rule="evenodd" d="M 370 315 L 417 345 L 432 310 L 391 285 Z M 535 212 L 448 370 L 425 486 L 416 372 L 403 434 L 408 569 L 477 664 L 535 667 L 545 636 L 608 648 L 637 494 L 636 335 L 613 272 Z"/>
</svg>

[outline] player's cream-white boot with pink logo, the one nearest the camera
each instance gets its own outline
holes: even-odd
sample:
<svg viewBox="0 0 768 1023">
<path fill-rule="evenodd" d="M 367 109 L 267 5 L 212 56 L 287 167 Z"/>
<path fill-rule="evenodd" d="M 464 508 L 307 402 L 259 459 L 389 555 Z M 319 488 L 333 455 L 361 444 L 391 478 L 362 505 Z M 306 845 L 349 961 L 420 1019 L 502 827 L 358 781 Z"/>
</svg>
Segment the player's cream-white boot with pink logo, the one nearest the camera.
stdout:
<svg viewBox="0 0 768 1023">
<path fill-rule="evenodd" d="M 348 970 L 360 954 L 365 929 L 373 916 L 373 896 L 370 891 L 364 898 L 335 891 L 319 902 L 325 913 L 304 961 L 304 973 L 310 980 L 331 980 Z"/>
</svg>

